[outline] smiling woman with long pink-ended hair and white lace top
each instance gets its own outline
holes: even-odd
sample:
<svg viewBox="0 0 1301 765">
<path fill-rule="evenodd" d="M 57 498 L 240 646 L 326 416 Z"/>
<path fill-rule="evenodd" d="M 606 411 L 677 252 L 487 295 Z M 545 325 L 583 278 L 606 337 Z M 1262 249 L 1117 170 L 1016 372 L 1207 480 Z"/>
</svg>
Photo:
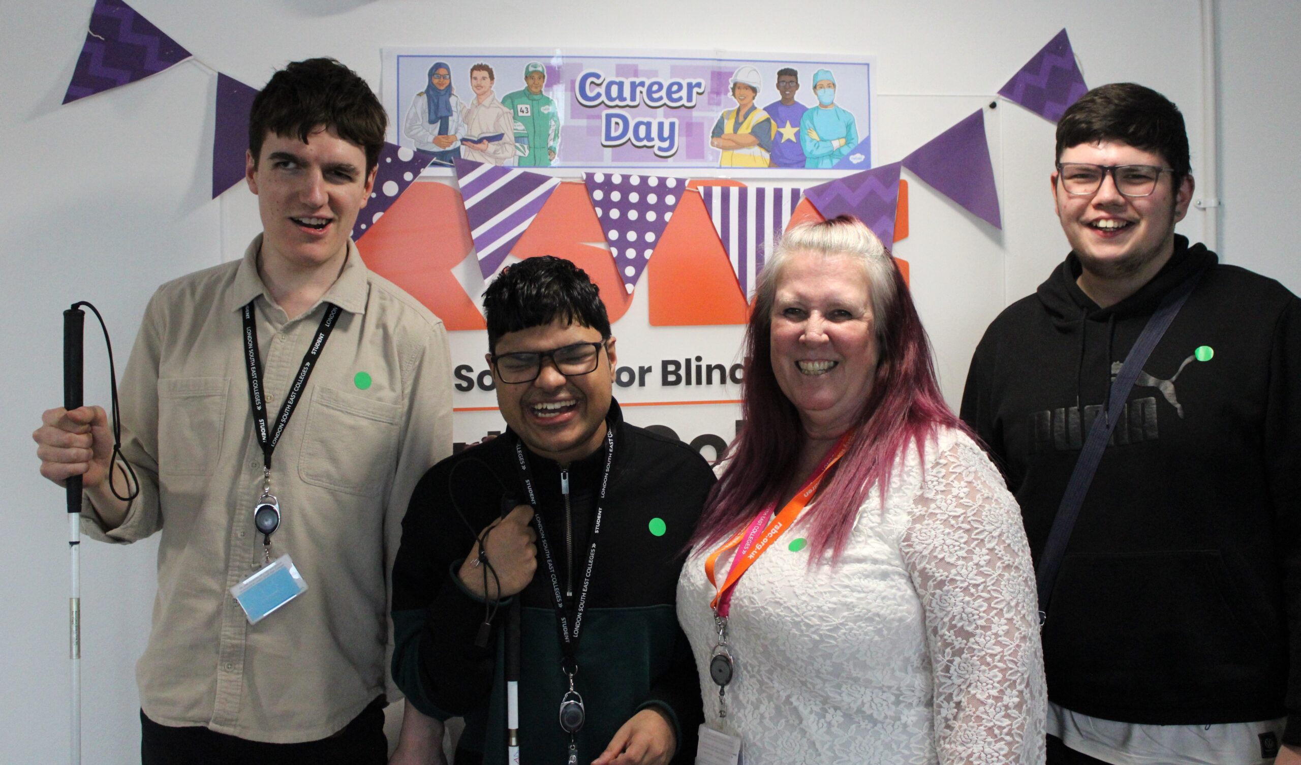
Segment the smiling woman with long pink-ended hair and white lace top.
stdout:
<svg viewBox="0 0 1301 765">
<path fill-rule="evenodd" d="M 1020 511 L 945 405 L 903 276 L 857 220 L 798 225 L 769 258 L 743 406 L 678 583 L 701 755 L 1042 762 Z"/>
</svg>

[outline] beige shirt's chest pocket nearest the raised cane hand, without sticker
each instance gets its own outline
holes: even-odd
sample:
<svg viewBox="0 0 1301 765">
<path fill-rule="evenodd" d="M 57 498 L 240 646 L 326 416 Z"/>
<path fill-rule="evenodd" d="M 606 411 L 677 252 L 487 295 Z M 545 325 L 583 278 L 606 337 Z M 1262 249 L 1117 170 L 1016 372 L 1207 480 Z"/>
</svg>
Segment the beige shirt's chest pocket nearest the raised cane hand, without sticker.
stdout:
<svg viewBox="0 0 1301 765">
<path fill-rule="evenodd" d="M 228 377 L 159 380 L 159 474 L 212 475 L 221 455 Z"/>
</svg>

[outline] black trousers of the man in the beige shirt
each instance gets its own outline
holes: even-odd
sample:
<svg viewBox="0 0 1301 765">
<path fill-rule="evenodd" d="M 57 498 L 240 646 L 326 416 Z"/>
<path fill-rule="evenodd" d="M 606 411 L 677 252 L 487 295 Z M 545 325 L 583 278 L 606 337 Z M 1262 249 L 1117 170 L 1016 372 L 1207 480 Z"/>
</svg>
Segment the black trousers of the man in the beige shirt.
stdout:
<svg viewBox="0 0 1301 765">
<path fill-rule="evenodd" d="M 142 765 L 385 765 L 384 699 L 337 734 L 301 744 L 267 744 L 202 726 L 159 725 L 141 712 Z"/>
</svg>

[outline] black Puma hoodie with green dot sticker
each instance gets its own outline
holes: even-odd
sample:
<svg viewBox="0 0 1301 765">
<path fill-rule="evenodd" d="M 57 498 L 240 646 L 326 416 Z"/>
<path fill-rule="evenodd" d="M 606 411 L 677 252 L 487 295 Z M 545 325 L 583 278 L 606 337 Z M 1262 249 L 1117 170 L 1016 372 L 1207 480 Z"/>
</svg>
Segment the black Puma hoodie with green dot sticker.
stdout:
<svg viewBox="0 0 1301 765">
<path fill-rule="evenodd" d="M 1171 289 L 1205 271 L 1144 366 L 1071 535 L 1043 628 L 1049 697 L 1134 723 L 1289 714 L 1301 743 L 1301 303 L 1176 237 L 1099 308 L 1072 252 L 990 324 L 961 416 L 1039 554 L 1111 380 Z M 1081 418 L 1082 407 L 1082 418 Z"/>
</svg>

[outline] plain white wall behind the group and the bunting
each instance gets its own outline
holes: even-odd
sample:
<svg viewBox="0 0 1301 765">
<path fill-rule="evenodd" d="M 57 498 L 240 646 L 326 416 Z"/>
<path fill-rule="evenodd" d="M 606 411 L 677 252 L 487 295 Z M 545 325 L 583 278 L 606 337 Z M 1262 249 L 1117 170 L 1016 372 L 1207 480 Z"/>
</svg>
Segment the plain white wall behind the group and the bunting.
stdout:
<svg viewBox="0 0 1301 765">
<path fill-rule="evenodd" d="M 206 64 L 260 86 L 288 60 L 332 55 L 379 86 L 381 46 L 640 47 L 872 53 L 879 65 L 881 161 L 894 161 L 986 103 L 1063 26 L 1090 85 L 1132 79 L 1181 105 L 1201 154 L 1200 22 L 1193 0 L 1017 0 L 925 4 L 752 0 L 722 4 L 432 3 L 427 0 L 135 0 Z M 0 411 L 8 523 L 0 539 L 0 762 L 66 760 L 66 545 L 61 493 L 36 475 L 29 433 L 60 402 L 60 316 L 75 299 L 111 323 L 118 363 L 159 282 L 238 255 L 256 230 L 247 191 L 209 200 L 215 75 L 198 64 L 61 107 L 91 0 L 0 0 L 0 358 L 10 393 Z M 488 10 L 490 8 L 490 12 Z M 816 8 L 816 12 L 792 10 Z M 1292 138 L 1301 117 L 1301 30 L 1294 3 L 1223 3 L 1220 14 L 1222 235 L 1226 259 L 1301 290 L 1281 245 L 1301 178 Z M 500 29 L 494 29 L 500 27 Z M 984 321 L 954 325 L 952 304 L 989 314 L 1042 281 L 1066 252 L 1051 216 L 1053 130 L 1019 107 L 990 117 L 1004 229 L 964 217 L 913 182 L 913 235 L 899 254 L 915 280 L 959 285 L 919 297 L 937 338 L 946 393 L 960 390 Z M 1201 212 L 1181 230 L 1194 239 Z M 254 216 L 254 217 L 250 217 Z M 225 241 L 222 241 L 225 238 Z M 964 260 L 963 258 L 969 256 Z M 963 294 L 963 273 L 1002 271 L 999 294 Z M 995 280 L 995 284 L 998 281 Z M 107 368 L 87 327 L 87 399 L 107 402 Z M 133 665 L 152 602 L 155 546 L 83 545 L 85 752 L 138 758 Z"/>
</svg>

